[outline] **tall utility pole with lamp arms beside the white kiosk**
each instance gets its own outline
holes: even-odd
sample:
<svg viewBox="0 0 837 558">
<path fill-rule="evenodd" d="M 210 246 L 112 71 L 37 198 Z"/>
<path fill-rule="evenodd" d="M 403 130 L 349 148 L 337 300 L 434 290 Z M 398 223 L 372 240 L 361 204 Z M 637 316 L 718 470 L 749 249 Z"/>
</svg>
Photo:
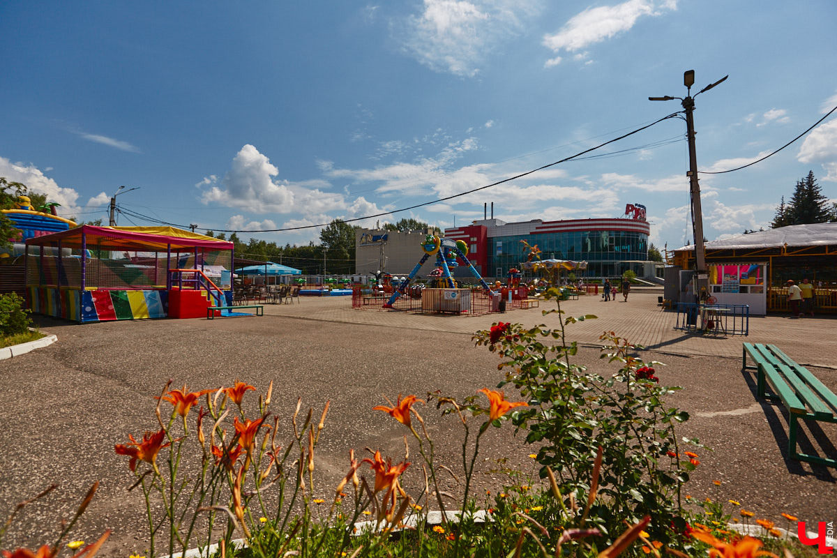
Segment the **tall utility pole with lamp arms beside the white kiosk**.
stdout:
<svg viewBox="0 0 837 558">
<path fill-rule="evenodd" d="M 714 84 L 707 85 L 695 94 L 701 95 L 704 91 L 711 90 L 717 84 L 727 79 L 725 75 Z M 697 156 L 695 150 L 695 120 L 692 113 L 695 110 L 695 97 L 691 96 L 691 86 L 695 84 L 695 70 L 686 70 L 683 73 L 683 84 L 686 85 L 686 98 L 671 97 L 649 97 L 648 100 L 680 100 L 680 105 L 686 112 L 686 140 L 689 143 L 689 191 L 691 193 L 692 233 L 695 237 L 695 264 L 697 268 L 697 282 L 695 292 L 698 296 L 705 298 L 709 290 L 709 276 L 706 274 L 706 250 L 703 247 L 703 212 L 701 212 L 701 186 L 697 182 Z"/>
</svg>

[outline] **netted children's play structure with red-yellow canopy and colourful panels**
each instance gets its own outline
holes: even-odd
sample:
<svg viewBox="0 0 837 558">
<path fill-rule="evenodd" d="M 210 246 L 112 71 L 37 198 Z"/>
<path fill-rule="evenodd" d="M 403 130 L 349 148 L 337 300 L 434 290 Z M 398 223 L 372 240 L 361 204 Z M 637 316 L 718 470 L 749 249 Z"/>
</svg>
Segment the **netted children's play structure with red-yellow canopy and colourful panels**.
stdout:
<svg viewBox="0 0 837 558">
<path fill-rule="evenodd" d="M 233 243 L 172 227 L 82 225 L 25 246 L 29 308 L 82 323 L 206 317 L 231 305 L 230 269 Z"/>
</svg>

